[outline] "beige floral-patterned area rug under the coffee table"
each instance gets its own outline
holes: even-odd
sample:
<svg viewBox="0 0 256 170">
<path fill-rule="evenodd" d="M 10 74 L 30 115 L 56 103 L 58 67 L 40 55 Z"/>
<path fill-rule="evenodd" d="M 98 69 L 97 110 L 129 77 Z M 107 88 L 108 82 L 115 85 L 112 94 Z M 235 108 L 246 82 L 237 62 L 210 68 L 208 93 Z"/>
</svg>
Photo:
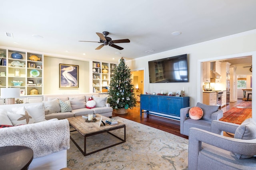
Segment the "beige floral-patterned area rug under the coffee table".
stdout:
<svg viewBox="0 0 256 170">
<path fill-rule="evenodd" d="M 72 170 L 186 170 L 188 169 L 188 140 L 122 117 L 114 117 L 126 124 L 126 142 L 88 156 L 72 141 L 67 165 Z M 112 131 L 122 137 L 123 129 Z M 77 132 L 72 137 L 83 144 Z M 87 151 L 120 141 L 108 133 L 86 138 Z"/>
</svg>

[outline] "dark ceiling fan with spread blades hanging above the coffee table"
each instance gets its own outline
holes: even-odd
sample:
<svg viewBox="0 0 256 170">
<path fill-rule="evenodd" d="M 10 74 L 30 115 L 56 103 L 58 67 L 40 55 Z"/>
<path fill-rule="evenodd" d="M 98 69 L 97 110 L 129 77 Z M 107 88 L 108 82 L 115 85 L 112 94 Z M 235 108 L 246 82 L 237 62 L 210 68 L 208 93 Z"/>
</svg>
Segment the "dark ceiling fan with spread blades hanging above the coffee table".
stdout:
<svg viewBox="0 0 256 170">
<path fill-rule="evenodd" d="M 101 49 L 104 45 L 109 45 L 110 47 L 114 47 L 116 49 L 122 50 L 124 48 L 118 45 L 115 45 L 114 43 L 130 43 L 129 39 L 112 40 L 110 37 L 107 37 L 107 35 L 109 34 L 108 31 L 104 31 L 103 34 L 102 33 L 96 33 L 96 34 L 100 37 L 100 42 L 98 41 L 81 41 L 81 42 L 103 43 L 100 46 L 98 46 L 96 50 Z"/>
</svg>

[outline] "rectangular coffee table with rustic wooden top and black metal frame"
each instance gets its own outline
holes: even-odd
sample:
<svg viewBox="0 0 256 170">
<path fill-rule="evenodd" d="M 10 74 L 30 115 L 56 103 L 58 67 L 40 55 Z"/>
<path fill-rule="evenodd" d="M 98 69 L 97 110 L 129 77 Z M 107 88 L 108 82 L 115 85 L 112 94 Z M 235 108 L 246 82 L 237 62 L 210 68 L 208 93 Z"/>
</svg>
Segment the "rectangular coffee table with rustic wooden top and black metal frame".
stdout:
<svg viewBox="0 0 256 170">
<path fill-rule="evenodd" d="M 104 150 L 110 147 L 113 147 L 115 145 L 119 145 L 120 143 L 124 143 L 126 142 L 126 129 L 125 129 L 125 124 L 118 122 L 118 124 L 115 125 L 109 125 L 107 123 L 105 123 L 105 121 L 107 119 L 110 119 L 106 116 L 102 116 L 102 121 L 106 124 L 105 126 L 101 123 L 101 126 L 99 126 L 100 124 L 100 118 L 102 115 L 100 114 L 96 114 L 96 122 L 86 122 L 84 118 L 82 118 L 82 116 L 77 116 L 77 117 L 70 117 L 67 118 L 69 121 L 69 124 L 74 127 L 74 129 L 76 129 L 75 131 L 78 131 L 83 137 L 84 137 L 84 151 L 79 147 L 79 145 L 76 143 L 76 141 L 74 141 L 74 139 L 71 137 L 70 135 L 70 139 L 74 142 L 74 144 L 76 145 L 76 147 L 78 147 L 78 149 L 82 152 L 82 154 L 84 156 L 87 156 L 89 154 L 98 152 L 100 150 Z M 120 138 L 116 135 L 114 135 L 113 133 L 110 133 L 110 131 L 116 130 L 116 129 L 121 129 L 124 128 L 124 138 Z M 107 146 L 107 147 L 103 147 L 101 149 L 97 149 L 95 151 L 86 153 L 86 137 L 90 137 L 93 135 L 98 135 L 101 133 L 109 133 L 111 135 L 113 135 L 114 137 L 118 138 L 121 140 L 121 142 L 115 143 L 113 145 Z"/>
</svg>

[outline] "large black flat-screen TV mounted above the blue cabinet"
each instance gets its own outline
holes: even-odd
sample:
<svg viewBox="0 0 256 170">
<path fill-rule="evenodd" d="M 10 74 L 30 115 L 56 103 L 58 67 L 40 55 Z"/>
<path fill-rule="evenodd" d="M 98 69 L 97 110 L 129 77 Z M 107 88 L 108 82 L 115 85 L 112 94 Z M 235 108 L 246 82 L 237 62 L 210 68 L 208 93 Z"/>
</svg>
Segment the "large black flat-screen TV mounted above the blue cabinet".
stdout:
<svg viewBox="0 0 256 170">
<path fill-rule="evenodd" d="M 187 54 L 148 61 L 150 83 L 188 82 Z"/>
</svg>

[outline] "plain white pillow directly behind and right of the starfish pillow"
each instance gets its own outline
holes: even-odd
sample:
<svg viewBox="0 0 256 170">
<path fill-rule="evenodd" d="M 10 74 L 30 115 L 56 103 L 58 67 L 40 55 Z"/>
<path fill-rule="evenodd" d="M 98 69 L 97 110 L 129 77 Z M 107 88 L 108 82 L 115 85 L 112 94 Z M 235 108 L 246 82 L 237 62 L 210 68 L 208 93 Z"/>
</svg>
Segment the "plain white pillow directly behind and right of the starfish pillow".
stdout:
<svg viewBox="0 0 256 170">
<path fill-rule="evenodd" d="M 20 109 L 22 109 L 22 107 L 14 107 L 12 108 L 12 112 L 15 113 Z M 25 106 L 25 109 L 28 111 L 28 114 L 30 114 L 33 117 L 33 119 L 35 120 L 35 123 L 40 121 L 46 121 L 45 112 L 44 112 L 44 103 L 27 105 Z"/>
</svg>

